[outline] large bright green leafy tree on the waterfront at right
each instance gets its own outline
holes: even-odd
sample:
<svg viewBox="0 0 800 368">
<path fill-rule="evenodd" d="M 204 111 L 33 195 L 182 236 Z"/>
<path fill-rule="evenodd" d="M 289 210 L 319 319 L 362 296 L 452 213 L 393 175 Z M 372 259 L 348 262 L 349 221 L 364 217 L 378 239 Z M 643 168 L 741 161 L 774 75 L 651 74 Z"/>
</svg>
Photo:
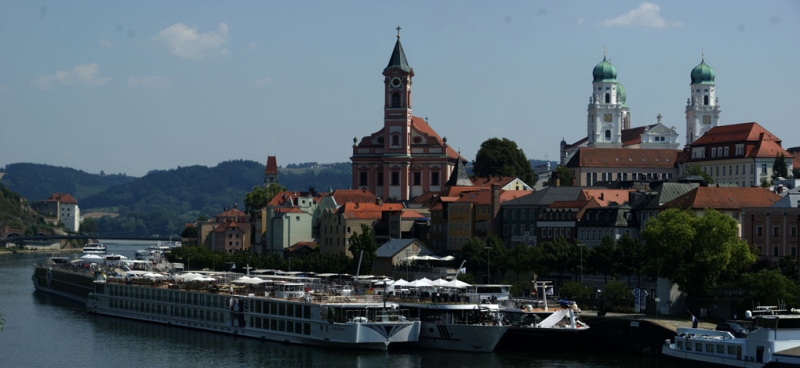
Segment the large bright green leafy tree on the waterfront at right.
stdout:
<svg viewBox="0 0 800 368">
<path fill-rule="evenodd" d="M 669 278 L 690 295 L 710 292 L 756 258 L 739 239 L 736 221 L 712 209 L 703 216 L 668 209 L 647 221 L 642 238 L 649 273 Z"/>
</svg>

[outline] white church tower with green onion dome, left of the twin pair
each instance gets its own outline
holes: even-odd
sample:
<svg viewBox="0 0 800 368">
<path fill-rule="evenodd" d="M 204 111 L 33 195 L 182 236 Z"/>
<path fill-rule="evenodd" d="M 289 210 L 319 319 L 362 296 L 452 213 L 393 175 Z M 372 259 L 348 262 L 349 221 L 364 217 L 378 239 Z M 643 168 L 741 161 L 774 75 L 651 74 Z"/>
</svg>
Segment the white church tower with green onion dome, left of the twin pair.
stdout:
<svg viewBox="0 0 800 368">
<path fill-rule="evenodd" d="M 617 82 L 617 68 L 606 60 L 592 71 L 592 96 L 589 98 L 588 147 L 622 147 L 622 130 L 630 128 L 630 110 L 625 106 L 625 88 Z"/>
</svg>

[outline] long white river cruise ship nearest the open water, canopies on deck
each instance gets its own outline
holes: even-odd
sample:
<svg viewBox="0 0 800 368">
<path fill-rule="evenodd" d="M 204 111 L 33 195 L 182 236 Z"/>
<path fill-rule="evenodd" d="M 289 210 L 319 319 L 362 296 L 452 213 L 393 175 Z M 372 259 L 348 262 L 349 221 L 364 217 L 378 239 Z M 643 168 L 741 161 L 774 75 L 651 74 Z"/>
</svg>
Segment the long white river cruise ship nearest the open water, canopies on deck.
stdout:
<svg viewBox="0 0 800 368">
<path fill-rule="evenodd" d="M 36 290 L 106 316 L 339 348 L 387 350 L 419 339 L 420 322 L 408 309 L 377 295 L 335 295 L 319 284 L 229 272 L 125 272 L 61 260 L 36 265 L 32 279 Z"/>
</svg>

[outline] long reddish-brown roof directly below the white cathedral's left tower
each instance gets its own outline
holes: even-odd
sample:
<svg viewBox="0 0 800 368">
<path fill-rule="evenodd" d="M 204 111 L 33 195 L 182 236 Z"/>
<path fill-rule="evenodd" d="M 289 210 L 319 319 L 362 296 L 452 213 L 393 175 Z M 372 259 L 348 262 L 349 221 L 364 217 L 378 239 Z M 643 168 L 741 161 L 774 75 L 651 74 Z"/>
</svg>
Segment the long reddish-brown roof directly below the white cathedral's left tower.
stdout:
<svg viewBox="0 0 800 368">
<path fill-rule="evenodd" d="M 567 167 L 671 168 L 680 152 L 672 149 L 583 147 L 570 159 Z"/>
</svg>

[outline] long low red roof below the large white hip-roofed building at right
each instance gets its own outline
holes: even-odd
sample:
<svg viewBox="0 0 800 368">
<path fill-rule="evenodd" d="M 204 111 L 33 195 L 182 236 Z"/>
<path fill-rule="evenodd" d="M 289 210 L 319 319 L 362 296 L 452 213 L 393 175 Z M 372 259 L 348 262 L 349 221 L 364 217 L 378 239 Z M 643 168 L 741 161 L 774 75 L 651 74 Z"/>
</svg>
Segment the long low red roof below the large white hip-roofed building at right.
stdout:
<svg viewBox="0 0 800 368">
<path fill-rule="evenodd" d="M 686 194 L 665 203 L 664 208 L 687 208 L 702 210 L 739 210 L 745 207 L 769 207 L 781 196 L 766 188 L 697 187 Z"/>
</svg>

